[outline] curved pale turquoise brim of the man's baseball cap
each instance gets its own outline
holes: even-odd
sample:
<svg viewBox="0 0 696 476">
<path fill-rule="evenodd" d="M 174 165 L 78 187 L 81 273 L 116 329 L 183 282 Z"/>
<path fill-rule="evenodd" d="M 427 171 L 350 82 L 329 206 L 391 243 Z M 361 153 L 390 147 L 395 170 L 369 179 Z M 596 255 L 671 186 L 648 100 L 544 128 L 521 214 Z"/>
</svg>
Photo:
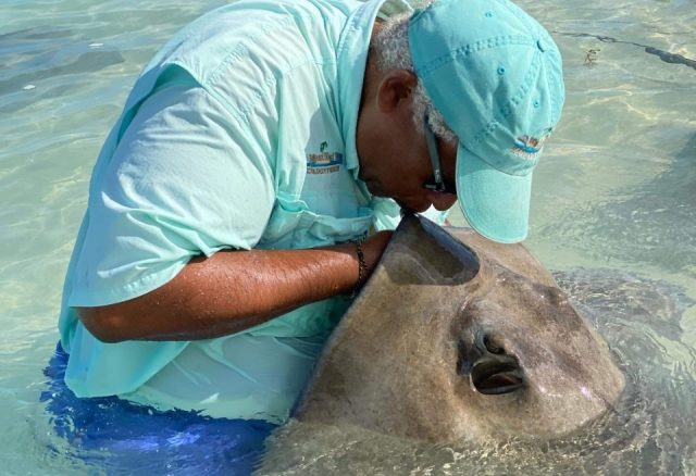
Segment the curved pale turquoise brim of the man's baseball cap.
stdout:
<svg viewBox="0 0 696 476">
<path fill-rule="evenodd" d="M 532 172 L 505 174 L 461 145 L 457 150 L 457 196 L 469 225 L 484 237 L 501 243 L 526 238 Z"/>
</svg>

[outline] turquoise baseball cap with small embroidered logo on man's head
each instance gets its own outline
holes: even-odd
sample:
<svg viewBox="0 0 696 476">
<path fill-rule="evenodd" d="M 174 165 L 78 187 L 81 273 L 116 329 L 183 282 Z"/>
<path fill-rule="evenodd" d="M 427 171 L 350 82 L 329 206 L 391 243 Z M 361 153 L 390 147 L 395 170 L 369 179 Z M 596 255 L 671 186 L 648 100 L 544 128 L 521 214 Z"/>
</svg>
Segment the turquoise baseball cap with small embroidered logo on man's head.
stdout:
<svg viewBox="0 0 696 476">
<path fill-rule="evenodd" d="M 435 0 L 411 16 L 409 48 L 415 75 L 459 138 L 464 217 L 492 240 L 522 241 L 532 172 L 564 100 L 558 47 L 507 0 Z"/>
</svg>

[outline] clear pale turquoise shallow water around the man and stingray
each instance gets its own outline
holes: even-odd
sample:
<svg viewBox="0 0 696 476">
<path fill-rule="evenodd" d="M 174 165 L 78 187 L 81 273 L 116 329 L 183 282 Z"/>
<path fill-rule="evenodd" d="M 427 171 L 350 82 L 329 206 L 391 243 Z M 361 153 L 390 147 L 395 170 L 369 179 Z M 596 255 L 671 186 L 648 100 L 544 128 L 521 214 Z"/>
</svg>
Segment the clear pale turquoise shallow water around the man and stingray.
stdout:
<svg viewBox="0 0 696 476">
<path fill-rule="evenodd" d="M 45 388 L 42 369 L 55 346 L 63 273 L 86 204 L 89 174 L 145 62 L 182 25 L 223 3 L 0 2 L 3 472 L 96 471 L 70 455 L 38 400 Z M 692 385 L 694 2 L 524 3 L 554 32 L 568 90 L 562 124 L 535 174 L 527 245 L 549 268 L 570 273 L 583 267 L 602 277 L 625 273 L 647 279 L 645 287 L 663 290 L 666 302 L 673 295 L 684 297 L 674 324 L 679 333 L 649 323 L 633 330 L 658 343 L 650 349 L 660 353 L 663 374 L 681 376 L 670 380 L 673 385 Z M 461 223 L 458 216 L 453 221 Z M 629 298 L 619 304 L 627 305 Z M 681 394 L 678 390 L 674 394 Z M 693 400 L 675 402 L 682 410 L 693 409 Z M 694 435 L 688 441 L 680 438 L 672 451 L 693 460 Z M 49 446 L 58 450 L 48 451 Z M 678 474 L 696 472 L 693 462 L 675 467 L 681 468 Z"/>
</svg>

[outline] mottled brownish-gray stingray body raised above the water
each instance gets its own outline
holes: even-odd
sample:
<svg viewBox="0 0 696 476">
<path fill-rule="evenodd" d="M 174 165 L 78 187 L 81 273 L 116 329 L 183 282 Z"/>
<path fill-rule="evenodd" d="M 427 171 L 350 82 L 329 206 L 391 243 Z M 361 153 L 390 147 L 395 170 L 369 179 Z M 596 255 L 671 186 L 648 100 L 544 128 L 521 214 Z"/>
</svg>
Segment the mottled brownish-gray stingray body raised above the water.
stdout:
<svg viewBox="0 0 696 476">
<path fill-rule="evenodd" d="M 604 339 L 523 246 L 408 215 L 296 416 L 438 442 L 552 438 L 623 387 Z"/>
</svg>

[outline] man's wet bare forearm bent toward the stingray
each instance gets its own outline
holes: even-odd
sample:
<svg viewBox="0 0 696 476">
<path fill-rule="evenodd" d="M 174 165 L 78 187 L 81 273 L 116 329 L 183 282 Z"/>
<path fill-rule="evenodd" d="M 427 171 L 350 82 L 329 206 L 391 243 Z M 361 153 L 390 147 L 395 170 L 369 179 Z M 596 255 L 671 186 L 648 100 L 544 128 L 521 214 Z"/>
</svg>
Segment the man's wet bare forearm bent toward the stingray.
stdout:
<svg viewBox="0 0 696 476">
<path fill-rule="evenodd" d="M 364 243 L 371 273 L 389 234 Z M 100 340 L 196 340 L 259 325 L 309 302 L 350 292 L 358 280 L 352 243 L 310 250 L 220 251 L 195 258 L 166 285 L 138 298 L 78 308 Z"/>
</svg>

